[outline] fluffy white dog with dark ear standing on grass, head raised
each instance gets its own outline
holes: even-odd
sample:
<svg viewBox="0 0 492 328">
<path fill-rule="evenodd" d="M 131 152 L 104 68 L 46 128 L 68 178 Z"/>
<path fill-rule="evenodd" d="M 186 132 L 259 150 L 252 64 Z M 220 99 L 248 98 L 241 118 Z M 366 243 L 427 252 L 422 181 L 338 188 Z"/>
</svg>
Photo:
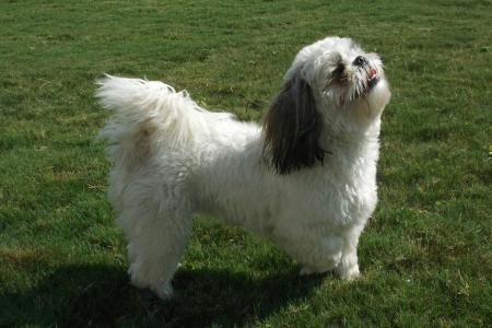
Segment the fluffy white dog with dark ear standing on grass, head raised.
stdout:
<svg viewBox="0 0 492 328">
<path fill-rule="evenodd" d="M 101 136 L 136 286 L 172 294 L 194 212 L 276 241 L 301 274 L 359 276 L 390 98 L 376 54 L 339 37 L 303 48 L 262 128 L 207 112 L 161 82 L 108 75 L 98 85 L 114 110 Z"/>
</svg>

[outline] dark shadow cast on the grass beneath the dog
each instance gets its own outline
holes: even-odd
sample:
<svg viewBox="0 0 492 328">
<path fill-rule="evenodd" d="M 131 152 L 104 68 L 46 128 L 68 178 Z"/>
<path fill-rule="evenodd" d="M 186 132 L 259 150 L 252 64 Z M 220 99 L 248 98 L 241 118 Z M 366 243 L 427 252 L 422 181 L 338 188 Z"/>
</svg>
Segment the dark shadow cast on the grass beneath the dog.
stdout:
<svg viewBox="0 0 492 328">
<path fill-rule="evenodd" d="M 179 270 L 175 296 L 164 302 L 132 288 L 120 267 L 67 267 L 27 293 L 0 296 L 0 326 L 242 326 L 305 297 L 320 281 L 294 271 L 253 279 L 221 270 Z"/>
</svg>

